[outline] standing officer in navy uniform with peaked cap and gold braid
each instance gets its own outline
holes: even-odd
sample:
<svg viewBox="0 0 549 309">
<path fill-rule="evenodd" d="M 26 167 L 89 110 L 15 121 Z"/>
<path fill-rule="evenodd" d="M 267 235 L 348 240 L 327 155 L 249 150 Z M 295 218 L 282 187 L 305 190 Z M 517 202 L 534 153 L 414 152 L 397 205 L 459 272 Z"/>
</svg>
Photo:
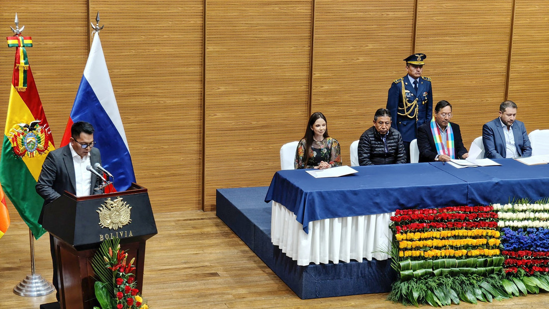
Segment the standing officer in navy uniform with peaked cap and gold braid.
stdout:
<svg viewBox="0 0 549 309">
<path fill-rule="evenodd" d="M 394 116 L 393 127 L 402 134 L 406 162 L 410 162 L 410 142 L 417 138 L 417 128 L 433 116 L 431 78 L 422 76 L 425 54 L 404 59 L 408 74 L 391 84 L 386 108 Z"/>
</svg>

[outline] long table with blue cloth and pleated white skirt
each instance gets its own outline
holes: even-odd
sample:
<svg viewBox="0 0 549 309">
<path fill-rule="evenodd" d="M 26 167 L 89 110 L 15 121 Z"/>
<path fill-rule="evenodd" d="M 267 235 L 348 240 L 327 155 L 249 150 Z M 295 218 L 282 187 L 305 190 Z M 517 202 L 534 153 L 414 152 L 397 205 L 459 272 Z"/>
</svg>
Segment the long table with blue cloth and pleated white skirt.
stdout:
<svg viewBox="0 0 549 309">
<path fill-rule="evenodd" d="M 455 168 L 442 162 L 356 166 L 358 173 L 314 178 L 279 171 L 265 201 L 273 201 L 271 240 L 298 262 L 387 259 L 389 218 L 396 209 L 507 203 L 549 196 L 549 165 L 513 159 L 502 166 Z"/>
</svg>

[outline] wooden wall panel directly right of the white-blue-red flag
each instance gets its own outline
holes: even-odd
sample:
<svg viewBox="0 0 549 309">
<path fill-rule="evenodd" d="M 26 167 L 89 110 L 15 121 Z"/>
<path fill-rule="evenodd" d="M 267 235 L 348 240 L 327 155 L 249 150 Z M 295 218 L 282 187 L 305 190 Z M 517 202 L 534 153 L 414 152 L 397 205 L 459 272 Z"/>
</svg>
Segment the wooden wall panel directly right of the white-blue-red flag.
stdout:
<svg viewBox="0 0 549 309">
<path fill-rule="evenodd" d="M 137 182 L 155 212 L 201 208 L 203 1 L 90 1 Z M 89 25 L 89 24 L 88 24 Z"/>
</svg>

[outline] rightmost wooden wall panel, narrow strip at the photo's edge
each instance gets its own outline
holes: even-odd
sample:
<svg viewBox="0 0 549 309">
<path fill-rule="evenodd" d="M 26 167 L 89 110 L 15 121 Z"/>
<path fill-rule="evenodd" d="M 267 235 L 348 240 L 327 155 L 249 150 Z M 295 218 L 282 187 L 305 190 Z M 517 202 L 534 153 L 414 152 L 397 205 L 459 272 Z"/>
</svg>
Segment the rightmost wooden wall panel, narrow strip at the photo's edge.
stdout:
<svg viewBox="0 0 549 309">
<path fill-rule="evenodd" d="M 528 132 L 549 128 L 549 3 L 517 0 L 508 99 Z"/>
</svg>

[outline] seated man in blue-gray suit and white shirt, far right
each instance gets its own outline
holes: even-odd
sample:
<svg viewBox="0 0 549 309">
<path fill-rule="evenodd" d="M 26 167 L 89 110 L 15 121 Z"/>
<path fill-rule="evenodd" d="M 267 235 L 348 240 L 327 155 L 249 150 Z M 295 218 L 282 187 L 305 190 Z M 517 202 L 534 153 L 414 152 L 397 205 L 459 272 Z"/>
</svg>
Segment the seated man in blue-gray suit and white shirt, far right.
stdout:
<svg viewBox="0 0 549 309">
<path fill-rule="evenodd" d="M 505 101 L 500 104 L 500 116 L 482 127 L 485 158 L 502 159 L 532 155 L 526 127 L 516 118 L 517 104 Z"/>
</svg>

